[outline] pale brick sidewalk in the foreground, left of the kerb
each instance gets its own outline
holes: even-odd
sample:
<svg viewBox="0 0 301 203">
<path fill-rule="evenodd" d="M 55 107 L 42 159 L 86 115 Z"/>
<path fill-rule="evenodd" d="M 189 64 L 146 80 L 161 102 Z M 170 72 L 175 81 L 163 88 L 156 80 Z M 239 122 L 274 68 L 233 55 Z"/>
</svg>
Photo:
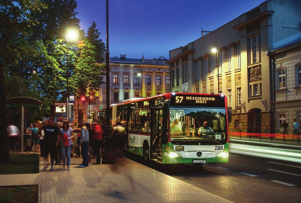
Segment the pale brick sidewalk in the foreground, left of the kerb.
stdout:
<svg viewBox="0 0 301 203">
<path fill-rule="evenodd" d="M 231 202 L 126 158 L 83 169 L 80 162 L 43 171 L 40 158 L 39 174 L 0 175 L 0 186 L 40 184 L 40 202 Z"/>
</svg>

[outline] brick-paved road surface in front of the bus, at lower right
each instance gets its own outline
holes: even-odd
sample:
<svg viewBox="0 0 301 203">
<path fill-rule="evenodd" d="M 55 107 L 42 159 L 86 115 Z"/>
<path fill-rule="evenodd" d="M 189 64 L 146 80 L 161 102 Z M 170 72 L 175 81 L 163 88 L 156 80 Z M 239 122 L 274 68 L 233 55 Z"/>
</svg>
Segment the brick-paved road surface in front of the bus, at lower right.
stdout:
<svg viewBox="0 0 301 203">
<path fill-rule="evenodd" d="M 199 173 L 174 173 L 172 176 L 233 202 L 301 202 L 298 188 L 210 165 L 203 168 Z M 189 166 L 185 169 L 189 170 Z"/>
</svg>

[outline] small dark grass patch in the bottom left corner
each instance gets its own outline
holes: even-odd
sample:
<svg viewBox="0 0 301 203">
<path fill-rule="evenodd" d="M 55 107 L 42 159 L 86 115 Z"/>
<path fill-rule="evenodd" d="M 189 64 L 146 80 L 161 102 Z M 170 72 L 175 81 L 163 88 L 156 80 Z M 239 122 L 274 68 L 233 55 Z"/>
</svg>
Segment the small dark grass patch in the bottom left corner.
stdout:
<svg viewBox="0 0 301 203">
<path fill-rule="evenodd" d="M 0 203 L 38 202 L 39 186 L 5 186 L 0 187 Z"/>
</svg>

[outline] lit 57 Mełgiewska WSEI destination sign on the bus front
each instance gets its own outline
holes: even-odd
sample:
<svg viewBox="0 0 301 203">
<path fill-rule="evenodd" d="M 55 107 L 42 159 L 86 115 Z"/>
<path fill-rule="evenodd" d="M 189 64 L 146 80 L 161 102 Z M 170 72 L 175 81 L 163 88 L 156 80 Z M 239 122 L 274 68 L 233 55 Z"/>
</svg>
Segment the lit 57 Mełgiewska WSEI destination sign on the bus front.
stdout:
<svg viewBox="0 0 301 203">
<path fill-rule="evenodd" d="M 217 96 L 217 95 L 172 95 L 171 97 L 171 105 L 176 106 L 225 106 L 225 99 L 224 97 Z"/>
</svg>

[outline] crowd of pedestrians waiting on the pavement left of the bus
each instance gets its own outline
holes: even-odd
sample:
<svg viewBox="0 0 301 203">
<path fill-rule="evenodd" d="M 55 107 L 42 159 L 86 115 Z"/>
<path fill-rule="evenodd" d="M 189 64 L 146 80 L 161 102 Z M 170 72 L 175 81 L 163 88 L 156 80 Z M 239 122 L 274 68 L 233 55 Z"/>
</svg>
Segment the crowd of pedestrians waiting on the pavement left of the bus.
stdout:
<svg viewBox="0 0 301 203">
<path fill-rule="evenodd" d="M 63 165 L 63 169 L 67 166 L 67 170 L 70 170 L 73 153 L 76 153 L 76 158 L 82 157 L 80 168 L 91 165 L 91 160 L 95 157 L 94 164 L 101 164 L 101 157 L 104 154 L 103 135 L 106 126 L 105 121 L 101 125 L 98 122 L 92 123 L 92 125 L 89 123 L 73 125 L 67 120 L 62 123 L 54 122 L 54 118 L 50 117 L 45 122 L 37 122 L 25 127 L 24 134 L 31 135 L 31 146 L 27 151 L 40 153 L 47 163 L 50 155 L 51 171 L 55 170 L 54 165 Z M 17 151 L 20 131 L 13 124 L 9 124 L 7 130 L 11 150 Z M 111 136 L 124 140 L 125 132 L 125 127 L 117 122 L 112 129 Z M 116 142 L 116 139 L 113 142 Z M 123 144 L 119 144 L 117 147 L 123 148 Z M 45 166 L 46 168 L 47 166 Z"/>
</svg>

